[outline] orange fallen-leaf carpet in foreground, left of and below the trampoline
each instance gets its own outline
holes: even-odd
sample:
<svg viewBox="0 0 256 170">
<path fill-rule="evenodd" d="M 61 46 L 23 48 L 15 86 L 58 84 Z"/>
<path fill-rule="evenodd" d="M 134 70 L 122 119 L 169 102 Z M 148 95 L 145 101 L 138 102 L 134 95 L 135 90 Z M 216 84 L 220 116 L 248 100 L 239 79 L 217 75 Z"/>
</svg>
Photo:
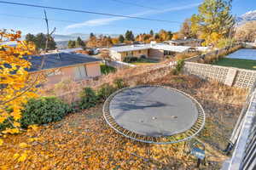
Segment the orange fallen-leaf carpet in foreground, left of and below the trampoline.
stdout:
<svg viewBox="0 0 256 170">
<path fill-rule="evenodd" d="M 101 105 L 8 136 L 0 149 L 3 169 L 190 169 L 195 164 L 182 156 L 183 144 L 148 146 L 113 132 L 102 119 Z"/>
</svg>

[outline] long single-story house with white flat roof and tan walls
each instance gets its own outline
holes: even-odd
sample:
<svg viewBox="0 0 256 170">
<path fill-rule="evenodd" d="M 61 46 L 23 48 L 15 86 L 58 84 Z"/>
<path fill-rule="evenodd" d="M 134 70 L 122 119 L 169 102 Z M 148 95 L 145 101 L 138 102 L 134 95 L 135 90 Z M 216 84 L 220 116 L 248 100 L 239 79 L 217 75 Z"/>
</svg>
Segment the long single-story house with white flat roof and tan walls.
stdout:
<svg viewBox="0 0 256 170">
<path fill-rule="evenodd" d="M 189 46 L 172 46 L 166 43 L 146 43 L 139 45 L 126 45 L 120 47 L 109 48 L 110 56 L 114 60 L 123 61 L 125 57 L 141 57 L 145 56 L 146 58 L 151 59 L 163 59 L 166 56 L 172 56 L 177 53 L 185 53 L 191 51 L 201 51 L 205 48 L 192 48 Z"/>
</svg>

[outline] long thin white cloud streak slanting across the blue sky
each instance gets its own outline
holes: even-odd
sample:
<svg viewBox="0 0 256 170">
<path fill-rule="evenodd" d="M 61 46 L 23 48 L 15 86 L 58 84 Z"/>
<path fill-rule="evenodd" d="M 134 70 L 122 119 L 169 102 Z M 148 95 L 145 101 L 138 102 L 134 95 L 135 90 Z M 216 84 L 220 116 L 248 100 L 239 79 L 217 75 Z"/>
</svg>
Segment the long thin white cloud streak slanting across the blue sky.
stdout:
<svg viewBox="0 0 256 170">
<path fill-rule="evenodd" d="M 184 10 L 184 9 L 188 9 L 188 8 L 195 8 L 195 7 L 199 6 L 200 4 L 201 3 L 193 3 L 193 4 L 189 4 L 189 5 L 182 6 L 182 7 L 166 8 L 166 9 L 162 9 L 162 10 L 148 10 L 148 11 L 145 11 L 142 13 L 130 14 L 129 16 L 140 17 L 140 16 L 152 15 L 152 14 L 163 14 L 163 13 L 167 13 L 167 12 Z M 110 24 L 113 21 L 128 20 L 128 19 L 129 18 L 125 18 L 125 17 L 110 17 L 110 18 L 101 18 L 101 19 L 95 19 L 95 20 L 86 20 L 86 21 L 78 23 L 78 24 L 69 25 L 66 27 L 66 29 L 81 28 L 84 26 L 104 26 L 104 25 Z"/>
</svg>

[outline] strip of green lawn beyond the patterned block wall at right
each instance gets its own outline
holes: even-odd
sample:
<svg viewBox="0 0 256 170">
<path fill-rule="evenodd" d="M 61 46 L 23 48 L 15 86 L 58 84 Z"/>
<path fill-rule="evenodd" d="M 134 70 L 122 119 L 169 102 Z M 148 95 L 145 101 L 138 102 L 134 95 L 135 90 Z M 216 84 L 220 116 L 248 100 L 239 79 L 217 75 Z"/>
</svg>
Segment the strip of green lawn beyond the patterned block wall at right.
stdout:
<svg viewBox="0 0 256 170">
<path fill-rule="evenodd" d="M 213 63 L 213 65 L 231 66 L 231 67 L 256 71 L 256 60 L 253 60 L 253 59 L 223 58 Z"/>
</svg>

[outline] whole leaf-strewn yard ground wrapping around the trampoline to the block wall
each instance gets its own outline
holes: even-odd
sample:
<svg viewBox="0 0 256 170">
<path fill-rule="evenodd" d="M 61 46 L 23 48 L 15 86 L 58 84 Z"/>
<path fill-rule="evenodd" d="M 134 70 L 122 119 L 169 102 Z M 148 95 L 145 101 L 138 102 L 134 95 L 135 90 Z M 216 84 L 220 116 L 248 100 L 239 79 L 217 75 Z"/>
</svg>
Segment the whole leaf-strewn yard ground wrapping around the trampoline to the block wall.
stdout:
<svg viewBox="0 0 256 170">
<path fill-rule="evenodd" d="M 201 82 L 194 77 L 161 77 L 140 83 L 169 85 L 193 95 L 207 114 L 198 137 L 207 144 L 207 166 L 218 169 L 246 91 Z M 150 156 L 148 149 L 150 148 Z M 61 122 L 6 136 L 0 146 L 3 169 L 195 169 L 184 144 L 142 144 L 115 133 L 102 117 L 102 105 L 73 113 Z M 148 158 L 150 161 L 148 161 Z"/>
</svg>

